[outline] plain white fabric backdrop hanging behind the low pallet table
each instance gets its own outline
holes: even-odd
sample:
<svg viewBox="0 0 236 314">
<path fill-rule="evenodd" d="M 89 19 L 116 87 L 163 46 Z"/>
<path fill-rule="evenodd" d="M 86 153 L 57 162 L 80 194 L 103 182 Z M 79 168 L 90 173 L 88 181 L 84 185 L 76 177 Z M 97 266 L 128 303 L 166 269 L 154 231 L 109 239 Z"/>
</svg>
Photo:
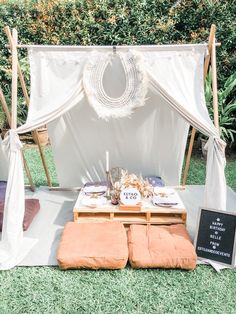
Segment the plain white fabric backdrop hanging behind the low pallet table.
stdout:
<svg viewBox="0 0 236 314">
<path fill-rule="evenodd" d="M 189 125 L 162 98 L 151 92 L 147 98 L 131 119 L 99 119 L 83 99 L 49 123 L 60 186 L 105 180 L 105 151 L 110 152 L 111 168 L 159 175 L 166 185 L 179 184 Z"/>
</svg>

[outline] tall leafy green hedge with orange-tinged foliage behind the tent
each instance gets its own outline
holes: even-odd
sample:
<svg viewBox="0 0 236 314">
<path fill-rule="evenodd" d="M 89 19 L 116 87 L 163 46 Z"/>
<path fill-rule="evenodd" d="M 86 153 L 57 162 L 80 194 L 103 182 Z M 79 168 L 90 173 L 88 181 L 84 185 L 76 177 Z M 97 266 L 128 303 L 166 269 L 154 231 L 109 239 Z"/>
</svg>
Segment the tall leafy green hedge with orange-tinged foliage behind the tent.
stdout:
<svg viewBox="0 0 236 314">
<path fill-rule="evenodd" d="M 6 25 L 17 28 L 22 43 L 145 45 L 207 41 L 212 23 L 222 43 L 217 49 L 220 87 L 236 68 L 235 12 L 234 0 L 0 0 L 1 87 L 10 95 Z M 21 50 L 20 57 L 25 53 Z"/>
</svg>

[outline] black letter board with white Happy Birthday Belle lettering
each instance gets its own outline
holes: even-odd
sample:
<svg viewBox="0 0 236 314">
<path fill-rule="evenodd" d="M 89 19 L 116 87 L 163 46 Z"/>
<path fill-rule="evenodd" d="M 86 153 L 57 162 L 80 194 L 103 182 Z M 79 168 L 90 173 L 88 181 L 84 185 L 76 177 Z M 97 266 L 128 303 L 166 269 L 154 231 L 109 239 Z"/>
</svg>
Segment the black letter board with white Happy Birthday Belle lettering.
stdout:
<svg viewBox="0 0 236 314">
<path fill-rule="evenodd" d="M 226 265 L 235 260 L 236 214 L 200 208 L 195 248 L 200 259 Z"/>
</svg>

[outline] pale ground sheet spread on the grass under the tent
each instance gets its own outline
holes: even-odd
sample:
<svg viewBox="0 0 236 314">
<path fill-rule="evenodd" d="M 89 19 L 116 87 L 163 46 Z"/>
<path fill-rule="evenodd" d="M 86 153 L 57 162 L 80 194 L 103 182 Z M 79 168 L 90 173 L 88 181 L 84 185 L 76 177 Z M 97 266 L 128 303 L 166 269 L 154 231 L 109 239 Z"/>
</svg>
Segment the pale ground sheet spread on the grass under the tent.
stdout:
<svg viewBox="0 0 236 314">
<path fill-rule="evenodd" d="M 196 231 L 198 208 L 203 203 L 204 186 L 190 185 L 185 191 L 178 191 L 187 208 L 187 229 L 193 239 Z M 39 198 L 41 210 L 28 231 L 27 238 L 38 239 L 37 244 L 20 263 L 20 266 L 57 265 L 56 251 L 63 227 L 73 220 L 72 209 L 78 192 L 49 192 L 40 188 L 27 197 Z M 227 210 L 236 212 L 236 193 L 227 188 Z"/>
</svg>

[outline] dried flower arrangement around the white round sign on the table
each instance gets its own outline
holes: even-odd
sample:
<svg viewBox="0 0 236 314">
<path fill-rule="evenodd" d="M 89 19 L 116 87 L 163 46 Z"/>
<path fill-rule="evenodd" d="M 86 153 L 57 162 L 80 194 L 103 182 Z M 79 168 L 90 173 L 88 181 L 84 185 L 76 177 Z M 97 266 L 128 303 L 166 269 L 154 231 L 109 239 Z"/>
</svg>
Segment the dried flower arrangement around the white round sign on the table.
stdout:
<svg viewBox="0 0 236 314">
<path fill-rule="evenodd" d="M 128 174 L 127 171 L 122 170 L 121 179 L 113 185 L 113 194 L 118 196 L 125 188 L 136 188 L 144 198 L 153 195 L 153 186 L 147 180 L 144 180 L 141 176 L 137 177 L 135 174 Z"/>
</svg>

